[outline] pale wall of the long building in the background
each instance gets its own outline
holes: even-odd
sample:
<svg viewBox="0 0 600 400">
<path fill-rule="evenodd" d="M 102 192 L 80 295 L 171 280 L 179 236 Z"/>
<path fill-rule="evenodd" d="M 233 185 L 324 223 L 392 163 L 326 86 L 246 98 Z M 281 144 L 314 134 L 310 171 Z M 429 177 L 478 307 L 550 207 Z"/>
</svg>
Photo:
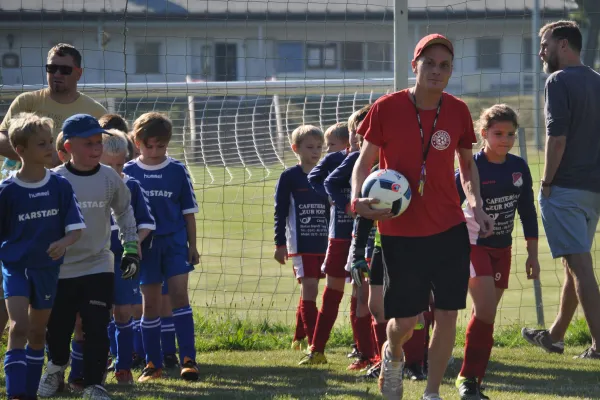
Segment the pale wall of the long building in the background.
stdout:
<svg viewBox="0 0 600 400">
<path fill-rule="evenodd" d="M 435 21 L 433 21 L 435 22 Z M 227 42 L 238 44 L 238 80 L 263 80 L 277 74 L 276 43 L 279 40 L 303 42 L 392 42 L 391 23 L 380 22 L 288 22 L 259 25 L 258 23 L 231 23 L 226 26 L 197 24 L 178 27 L 157 25 L 132 26 L 127 37 L 122 27 L 107 25 L 110 36 L 102 49 L 98 44 L 98 26 L 94 24 L 74 27 L 40 29 L 3 29 L 15 37 L 13 51 L 21 58 L 20 69 L 0 70 L 4 84 L 44 83 L 48 49 L 59 41 L 66 41 L 83 52 L 85 72 L 83 82 L 163 82 L 184 81 L 191 73 L 191 38 L 201 38 L 206 43 Z M 455 44 L 455 69 L 452 82 L 463 93 L 486 92 L 500 86 L 517 84 L 523 72 L 521 53 L 523 37 L 530 36 L 527 20 L 468 20 L 436 25 L 424 21 L 409 22 L 406 62 L 412 59 L 417 41 L 427 33 L 447 35 Z M 502 39 L 501 67 L 490 70 L 477 68 L 476 42 L 482 36 Z M 260 37 L 259 37 L 260 36 Z M 126 50 L 125 47 L 126 39 Z M 138 42 L 160 43 L 160 73 L 136 73 L 135 45 Z M 0 55 L 8 52 L 7 41 L 0 37 Z M 262 53 L 261 53 L 262 52 Z M 409 75 L 412 72 L 409 69 Z M 391 77 L 392 72 L 336 70 L 306 70 L 301 73 L 277 74 L 278 79 L 326 79 Z"/>
</svg>

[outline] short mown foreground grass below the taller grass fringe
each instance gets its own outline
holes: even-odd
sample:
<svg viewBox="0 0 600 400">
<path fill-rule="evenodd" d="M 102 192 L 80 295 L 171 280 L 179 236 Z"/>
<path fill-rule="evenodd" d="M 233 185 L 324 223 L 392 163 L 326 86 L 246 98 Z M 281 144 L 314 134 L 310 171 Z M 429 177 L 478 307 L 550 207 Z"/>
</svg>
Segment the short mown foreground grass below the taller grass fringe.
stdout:
<svg viewBox="0 0 600 400">
<path fill-rule="evenodd" d="M 346 371 L 346 349 L 328 353 L 329 363 L 317 367 L 297 365 L 298 353 L 291 350 L 205 354 L 201 379 L 184 383 L 165 379 L 160 383 L 123 389 L 109 384 L 113 399 L 380 399 L 375 382 L 365 382 Z M 564 356 L 545 355 L 540 349 L 496 348 L 486 380 L 486 393 L 494 400 L 597 399 L 600 397 L 600 369 L 596 362 L 571 358 L 581 349 Z M 461 349 L 448 369 L 441 388 L 445 399 L 457 399 L 452 386 L 460 369 Z M 276 362 L 274 362 L 276 360 Z M 404 398 L 418 399 L 422 382 L 405 382 Z M 56 397 L 60 399 L 62 397 Z M 64 397 L 74 398 L 74 396 Z"/>
</svg>

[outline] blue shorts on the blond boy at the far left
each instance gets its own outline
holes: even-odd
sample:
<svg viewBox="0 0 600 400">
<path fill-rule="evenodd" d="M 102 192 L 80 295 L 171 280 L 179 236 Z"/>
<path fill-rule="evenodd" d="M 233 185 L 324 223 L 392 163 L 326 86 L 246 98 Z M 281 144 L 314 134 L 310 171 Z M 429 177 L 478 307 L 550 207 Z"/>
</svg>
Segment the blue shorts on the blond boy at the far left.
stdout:
<svg viewBox="0 0 600 400">
<path fill-rule="evenodd" d="M 48 310 L 54 305 L 60 267 L 6 268 L 2 267 L 4 298 L 27 297 L 31 307 Z"/>
</svg>

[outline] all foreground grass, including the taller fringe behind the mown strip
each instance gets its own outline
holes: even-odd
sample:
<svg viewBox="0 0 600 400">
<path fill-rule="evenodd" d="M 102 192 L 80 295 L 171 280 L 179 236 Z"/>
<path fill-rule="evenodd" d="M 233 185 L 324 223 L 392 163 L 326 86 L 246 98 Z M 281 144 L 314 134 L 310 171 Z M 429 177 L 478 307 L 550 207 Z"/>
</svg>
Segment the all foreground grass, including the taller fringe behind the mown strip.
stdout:
<svg viewBox="0 0 600 400">
<path fill-rule="evenodd" d="M 328 343 L 328 364 L 301 367 L 299 352 L 289 350 L 293 329 L 269 321 L 251 322 L 216 313 L 196 313 L 196 347 L 200 381 L 187 383 L 170 373 L 159 383 L 123 388 L 109 377 L 113 399 L 375 399 L 375 382 L 346 370 L 345 354 L 352 343 L 348 324 L 333 331 Z M 493 399 L 596 399 L 600 397 L 600 364 L 573 360 L 590 343 L 584 321 L 570 327 L 566 353 L 549 355 L 528 345 L 520 327 L 506 326 L 495 333 L 495 347 L 485 385 Z M 460 370 L 464 335 L 459 329 L 455 361 L 446 372 L 441 393 L 457 398 L 453 382 Z M 5 342 L 0 345 L 2 352 Z M 139 374 L 136 373 L 135 376 Z M 0 370 L 0 380 L 4 379 Z M 405 399 L 417 399 L 424 383 L 405 382 Z M 4 388 L 0 388 L 0 395 Z M 71 399 L 63 394 L 56 399 Z"/>
</svg>

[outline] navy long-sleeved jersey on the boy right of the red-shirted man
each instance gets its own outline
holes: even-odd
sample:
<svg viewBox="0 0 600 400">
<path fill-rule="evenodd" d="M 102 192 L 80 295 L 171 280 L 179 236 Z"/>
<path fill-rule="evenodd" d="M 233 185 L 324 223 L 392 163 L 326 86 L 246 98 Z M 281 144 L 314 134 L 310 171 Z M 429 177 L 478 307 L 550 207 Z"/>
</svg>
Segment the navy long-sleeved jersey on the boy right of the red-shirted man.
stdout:
<svg viewBox="0 0 600 400">
<path fill-rule="evenodd" d="M 491 163 L 480 151 L 473 156 L 479 170 L 480 192 L 483 210 L 494 219 L 494 233 L 487 238 L 479 237 L 479 225 L 475 222 L 473 211 L 467 204 L 465 217 L 469 228 L 471 244 L 504 248 L 512 244 L 515 211 L 519 212 L 523 232 L 527 239 L 537 239 L 538 224 L 533 197 L 531 172 L 525 160 L 508 154 L 502 164 Z M 456 173 L 456 185 L 461 204 L 465 194 Z"/>
</svg>

